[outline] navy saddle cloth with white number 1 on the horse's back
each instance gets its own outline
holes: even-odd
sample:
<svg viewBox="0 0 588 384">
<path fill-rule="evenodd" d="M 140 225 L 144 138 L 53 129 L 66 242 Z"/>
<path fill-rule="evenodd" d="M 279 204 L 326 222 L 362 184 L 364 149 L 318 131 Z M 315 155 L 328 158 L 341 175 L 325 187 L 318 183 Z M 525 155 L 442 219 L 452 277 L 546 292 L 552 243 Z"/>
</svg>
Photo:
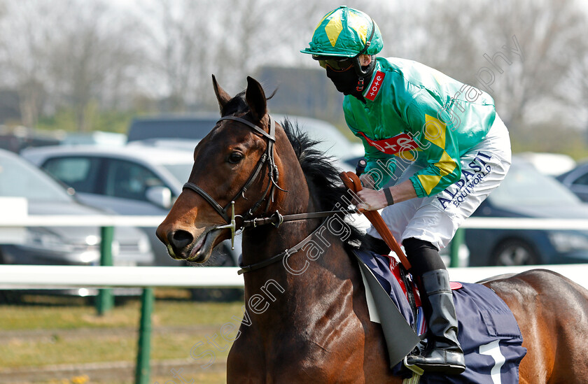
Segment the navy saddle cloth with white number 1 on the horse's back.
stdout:
<svg viewBox="0 0 588 384">
<path fill-rule="evenodd" d="M 413 329 L 417 329 L 418 334 L 424 333 L 426 325 L 421 310 L 419 308 L 415 319 L 404 284 L 399 280 L 400 271 L 396 259 L 364 251 L 356 251 L 356 255 L 372 270 Z M 411 288 L 416 291 L 416 288 Z M 521 331 L 510 308 L 484 285 L 459 283 L 453 288 L 459 327 L 458 340 L 465 355 L 466 369 L 463 374 L 456 376 L 423 374 L 421 383 L 519 383 L 519 363 L 526 354 L 526 348 L 521 346 Z M 419 303 L 420 300 L 417 299 L 416 304 Z M 382 318 L 381 321 L 386 319 Z M 393 369 L 398 375 L 402 373 L 401 370 L 402 363 Z"/>
</svg>

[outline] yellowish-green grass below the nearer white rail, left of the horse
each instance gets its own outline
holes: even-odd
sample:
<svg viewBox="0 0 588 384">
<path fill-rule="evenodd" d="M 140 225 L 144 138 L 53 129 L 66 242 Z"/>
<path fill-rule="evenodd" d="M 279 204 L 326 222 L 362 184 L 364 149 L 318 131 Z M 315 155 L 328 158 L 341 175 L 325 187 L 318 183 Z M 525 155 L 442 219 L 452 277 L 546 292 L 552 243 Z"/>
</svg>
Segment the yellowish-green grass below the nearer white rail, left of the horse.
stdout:
<svg viewBox="0 0 588 384">
<path fill-rule="evenodd" d="M 180 292 L 180 293 L 179 293 Z M 212 347 L 207 339 L 217 334 L 215 349 L 218 360 L 224 360 L 230 342 L 221 339 L 221 327 L 226 323 L 237 326 L 242 317 L 243 303 L 196 302 L 182 297 L 181 290 L 156 290 L 152 315 L 154 332 L 151 336 L 151 360 L 190 360 L 190 353 L 199 355 Z M 137 334 L 121 329 L 137 329 L 141 303 L 130 299 L 118 304 L 104 316 L 98 316 L 94 306 L 80 299 L 29 296 L 22 302 L 0 304 L 0 376 L 5 369 L 43 367 L 53 364 L 84 364 L 90 362 L 134 362 L 137 355 Z M 199 325 L 200 327 L 187 327 Z M 181 327 L 165 329 L 165 327 Z M 46 329 L 43 336 L 19 336 L 19 331 Z M 89 332 L 70 333 L 73 329 Z M 94 331 L 95 329 L 95 331 Z M 157 332 L 161 329 L 162 332 Z M 117 330 L 110 332 L 109 330 Z M 233 331 L 235 334 L 236 329 Z M 10 334 L 14 333 L 12 337 Z M 201 343 L 202 345 L 197 345 Z M 195 367 L 197 367 L 195 365 Z M 153 376 L 153 375 L 152 375 Z M 186 376 L 188 377 L 188 376 Z M 225 373 L 211 369 L 197 370 L 189 376 L 194 383 L 225 383 Z M 169 383 L 169 377 L 151 377 L 150 383 Z M 82 376 L 60 378 L 43 383 L 101 383 Z M 36 382 L 37 383 L 37 382 Z M 106 382 L 105 382 L 106 383 Z M 117 384 L 112 381 L 109 384 Z M 120 384 L 132 381 L 120 381 Z"/>
</svg>

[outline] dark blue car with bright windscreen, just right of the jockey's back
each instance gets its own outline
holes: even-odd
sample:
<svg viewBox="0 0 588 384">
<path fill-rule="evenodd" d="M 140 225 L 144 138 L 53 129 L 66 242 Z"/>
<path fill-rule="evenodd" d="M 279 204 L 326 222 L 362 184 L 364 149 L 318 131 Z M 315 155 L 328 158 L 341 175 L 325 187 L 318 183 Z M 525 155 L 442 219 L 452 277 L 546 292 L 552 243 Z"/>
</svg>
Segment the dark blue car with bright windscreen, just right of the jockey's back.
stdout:
<svg viewBox="0 0 588 384">
<path fill-rule="evenodd" d="M 478 218 L 587 219 L 584 204 L 551 176 L 513 157 L 505 180 L 477 208 Z M 588 231 L 465 229 L 470 266 L 588 262 Z"/>
</svg>

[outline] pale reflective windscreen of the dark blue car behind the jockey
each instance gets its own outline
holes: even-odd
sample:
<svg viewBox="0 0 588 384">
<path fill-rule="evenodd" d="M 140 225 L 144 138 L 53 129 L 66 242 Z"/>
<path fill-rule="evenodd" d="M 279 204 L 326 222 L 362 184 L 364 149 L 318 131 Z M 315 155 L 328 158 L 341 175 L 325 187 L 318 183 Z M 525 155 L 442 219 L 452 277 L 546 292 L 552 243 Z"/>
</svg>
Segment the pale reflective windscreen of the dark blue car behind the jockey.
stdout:
<svg viewBox="0 0 588 384">
<path fill-rule="evenodd" d="M 505 179 L 490 194 L 499 206 L 551 206 L 580 204 L 580 200 L 551 176 L 526 163 L 514 162 Z"/>
</svg>

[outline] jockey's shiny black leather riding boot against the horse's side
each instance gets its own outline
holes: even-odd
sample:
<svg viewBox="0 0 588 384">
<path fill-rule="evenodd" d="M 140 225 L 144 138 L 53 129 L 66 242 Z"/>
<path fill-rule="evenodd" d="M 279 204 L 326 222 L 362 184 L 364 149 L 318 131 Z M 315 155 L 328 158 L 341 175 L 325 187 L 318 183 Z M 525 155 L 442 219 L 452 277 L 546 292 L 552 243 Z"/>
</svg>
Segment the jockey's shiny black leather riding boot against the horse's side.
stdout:
<svg viewBox="0 0 588 384">
<path fill-rule="evenodd" d="M 427 348 L 422 356 L 408 356 L 407 364 L 428 372 L 461 374 L 465 370 L 465 360 L 457 340 L 457 317 L 449 273 L 447 269 L 437 269 L 423 273 L 421 280 L 424 290 L 421 299 L 428 304 L 425 311 L 428 315 Z"/>
</svg>

